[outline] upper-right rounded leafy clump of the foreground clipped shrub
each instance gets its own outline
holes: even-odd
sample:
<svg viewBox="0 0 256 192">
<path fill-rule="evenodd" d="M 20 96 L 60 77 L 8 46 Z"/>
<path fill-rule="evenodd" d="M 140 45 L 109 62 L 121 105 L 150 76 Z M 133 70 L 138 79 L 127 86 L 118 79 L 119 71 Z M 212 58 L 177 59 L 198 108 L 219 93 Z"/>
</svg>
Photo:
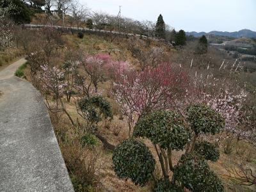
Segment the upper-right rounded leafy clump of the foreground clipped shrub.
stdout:
<svg viewBox="0 0 256 192">
<path fill-rule="evenodd" d="M 225 127 L 225 119 L 217 111 L 205 104 L 193 104 L 187 108 L 187 120 L 196 134 L 200 132 L 216 134 Z"/>
</svg>

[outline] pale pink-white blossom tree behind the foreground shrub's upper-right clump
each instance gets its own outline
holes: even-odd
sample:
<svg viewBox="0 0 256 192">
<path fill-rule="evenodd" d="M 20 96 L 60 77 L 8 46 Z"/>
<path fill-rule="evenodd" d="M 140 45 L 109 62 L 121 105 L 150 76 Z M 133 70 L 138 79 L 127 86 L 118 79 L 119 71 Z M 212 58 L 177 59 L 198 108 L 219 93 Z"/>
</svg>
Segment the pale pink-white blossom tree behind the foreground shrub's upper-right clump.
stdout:
<svg viewBox="0 0 256 192">
<path fill-rule="evenodd" d="M 192 79 L 186 94 L 185 102 L 201 102 L 221 113 L 225 118 L 225 136 L 237 138 L 237 141 L 248 138 L 251 131 L 244 127 L 244 102 L 248 97 L 245 88 L 239 86 L 230 77 L 218 79 L 212 74 L 206 76 L 196 76 Z M 221 140 L 221 136 L 218 140 Z"/>
</svg>

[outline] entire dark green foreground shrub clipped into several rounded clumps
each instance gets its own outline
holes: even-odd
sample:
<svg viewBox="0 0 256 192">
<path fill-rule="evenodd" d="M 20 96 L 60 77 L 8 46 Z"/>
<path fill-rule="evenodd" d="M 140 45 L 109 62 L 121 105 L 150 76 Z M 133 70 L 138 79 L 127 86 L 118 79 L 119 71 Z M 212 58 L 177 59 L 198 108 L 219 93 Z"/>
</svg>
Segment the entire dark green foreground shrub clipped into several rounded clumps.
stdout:
<svg viewBox="0 0 256 192">
<path fill-rule="evenodd" d="M 223 191 L 221 180 L 207 164 L 207 160 L 217 161 L 220 152 L 207 141 L 196 142 L 199 134 L 220 132 L 225 125 L 223 117 L 204 104 L 188 106 L 187 112 L 185 120 L 174 111 L 154 111 L 141 116 L 134 127 L 133 136 L 152 141 L 159 158 L 163 178 L 155 183 L 153 191 L 184 191 L 184 188 L 191 191 Z M 192 141 L 191 132 L 194 134 Z M 173 166 L 172 150 L 184 148 L 186 153 Z M 118 145 L 113 153 L 116 175 L 129 178 L 135 184 L 143 185 L 151 178 L 154 162 L 145 144 L 134 138 Z M 171 180 L 170 171 L 173 172 Z"/>
</svg>

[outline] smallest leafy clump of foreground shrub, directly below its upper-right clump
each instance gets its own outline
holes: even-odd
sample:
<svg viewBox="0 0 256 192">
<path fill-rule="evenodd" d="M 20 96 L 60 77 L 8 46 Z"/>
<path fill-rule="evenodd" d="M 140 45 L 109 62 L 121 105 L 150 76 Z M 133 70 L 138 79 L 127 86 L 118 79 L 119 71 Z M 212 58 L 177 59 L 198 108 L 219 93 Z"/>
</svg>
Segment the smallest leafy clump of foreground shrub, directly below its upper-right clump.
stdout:
<svg viewBox="0 0 256 192">
<path fill-rule="evenodd" d="M 203 156 L 206 160 L 210 160 L 213 162 L 218 161 L 218 159 L 220 158 L 219 149 L 212 143 L 209 143 L 208 141 L 196 142 L 195 151 L 201 156 Z"/>
</svg>

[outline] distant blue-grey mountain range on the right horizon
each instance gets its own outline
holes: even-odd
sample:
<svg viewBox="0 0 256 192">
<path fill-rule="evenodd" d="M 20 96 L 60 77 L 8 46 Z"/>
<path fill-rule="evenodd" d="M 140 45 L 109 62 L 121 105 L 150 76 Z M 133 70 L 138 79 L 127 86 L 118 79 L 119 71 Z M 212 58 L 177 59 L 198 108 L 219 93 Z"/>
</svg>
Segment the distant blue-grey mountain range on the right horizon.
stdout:
<svg viewBox="0 0 256 192">
<path fill-rule="evenodd" d="M 247 37 L 247 38 L 256 38 L 256 32 L 251 31 L 249 29 L 242 29 L 240 31 L 235 31 L 235 32 L 227 32 L 227 31 L 210 31 L 209 33 L 205 32 L 186 32 L 186 35 L 193 35 L 193 36 L 202 36 L 202 35 L 219 35 L 219 36 L 230 36 L 234 38 L 241 38 L 241 37 Z"/>
</svg>

